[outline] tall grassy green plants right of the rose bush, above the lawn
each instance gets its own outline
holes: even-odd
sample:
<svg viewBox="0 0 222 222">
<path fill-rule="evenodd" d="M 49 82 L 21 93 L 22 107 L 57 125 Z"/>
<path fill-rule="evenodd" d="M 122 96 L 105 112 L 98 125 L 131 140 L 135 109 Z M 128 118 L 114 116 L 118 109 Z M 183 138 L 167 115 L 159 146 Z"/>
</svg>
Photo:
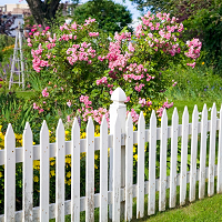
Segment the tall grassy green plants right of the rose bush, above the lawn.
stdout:
<svg viewBox="0 0 222 222">
<path fill-rule="evenodd" d="M 171 100 L 212 100 L 222 99 L 222 79 L 214 74 L 213 68 L 204 62 L 196 69 L 182 69 L 181 65 L 172 65 L 164 72 L 164 77 L 178 82 L 174 88 L 169 88 L 165 92 Z"/>
</svg>

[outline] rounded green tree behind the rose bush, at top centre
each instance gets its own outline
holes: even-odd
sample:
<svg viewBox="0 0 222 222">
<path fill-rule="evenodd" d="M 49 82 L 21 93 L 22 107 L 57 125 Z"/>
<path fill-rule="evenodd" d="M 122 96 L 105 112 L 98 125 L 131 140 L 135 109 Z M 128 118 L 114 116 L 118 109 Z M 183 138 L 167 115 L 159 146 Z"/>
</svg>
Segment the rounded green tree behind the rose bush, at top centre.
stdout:
<svg viewBox="0 0 222 222">
<path fill-rule="evenodd" d="M 127 7 L 110 0 L 92 0 L 77 7 L 72 19 L 78 23 L 84 23 L 89 17 L 97 20 L 99 29 L 111 33 L 121 31 L 132 22 L 132 16 Z"/>
</svg>

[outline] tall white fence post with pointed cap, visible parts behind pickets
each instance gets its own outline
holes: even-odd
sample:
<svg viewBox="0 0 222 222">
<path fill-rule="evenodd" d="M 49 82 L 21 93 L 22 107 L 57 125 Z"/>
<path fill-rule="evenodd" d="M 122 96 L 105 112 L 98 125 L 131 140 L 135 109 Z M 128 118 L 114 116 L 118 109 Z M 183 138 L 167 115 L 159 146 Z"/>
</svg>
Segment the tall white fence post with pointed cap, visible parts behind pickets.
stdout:
<svg viewBox="0 0 222 222">
<path fill-rule="evenodd" d="M 110 133 L 114 132 L 114 123 L 119 115 L 121 133 L 125 133 L 127 105 L 124 101 L 127 95 L 121 88 L 117 88 L 111 95 L 113 103 L 110 105 Z M 125 185 L 125 147 L 121 147 L 121 188 Z M 109 190 L 112 190 L 113 183 L 113 149 L 110 149 L 110 174 L 109 174 Z M 109 206 L 109 218 L 112 219 L 112 205 Z M 124 202 L 121 203 L 121 216 L 124 216 Z"/>
</svg>

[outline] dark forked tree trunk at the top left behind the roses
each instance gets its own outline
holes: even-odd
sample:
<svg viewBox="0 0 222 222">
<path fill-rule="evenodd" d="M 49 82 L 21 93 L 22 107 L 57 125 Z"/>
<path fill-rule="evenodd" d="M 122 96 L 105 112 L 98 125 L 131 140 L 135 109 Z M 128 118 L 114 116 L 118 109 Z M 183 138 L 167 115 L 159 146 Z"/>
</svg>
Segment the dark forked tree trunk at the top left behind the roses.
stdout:
<svg viewBox="0 0 222 222">
<path fill-rule="evenodd" d="M 27 2 L 36 22 L 44 29 L 54 18 L 60 0 L 27 0 Z"/>
</svg>

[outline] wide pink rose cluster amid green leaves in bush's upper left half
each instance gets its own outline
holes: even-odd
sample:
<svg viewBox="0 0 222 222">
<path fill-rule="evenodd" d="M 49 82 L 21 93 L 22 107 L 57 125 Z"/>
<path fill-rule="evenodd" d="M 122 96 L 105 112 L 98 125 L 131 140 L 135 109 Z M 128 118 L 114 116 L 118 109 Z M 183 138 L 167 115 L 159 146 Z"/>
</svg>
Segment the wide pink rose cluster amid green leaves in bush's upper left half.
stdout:
<svg viewBox="0 0 222 222">
<path fill-rule="evenodd" d="M 89 59 L 95 57 L 95 50 L 90 46 L 91 43 L 82 42 L 81 44 L 73 44 L 72 48 L 69 48 L 67 50 L 67 54 L 70 54 L 70 57 L 67 57 L 69 63 L 73 65 L 78 60 L 91 63 Z"/>
</svg>

